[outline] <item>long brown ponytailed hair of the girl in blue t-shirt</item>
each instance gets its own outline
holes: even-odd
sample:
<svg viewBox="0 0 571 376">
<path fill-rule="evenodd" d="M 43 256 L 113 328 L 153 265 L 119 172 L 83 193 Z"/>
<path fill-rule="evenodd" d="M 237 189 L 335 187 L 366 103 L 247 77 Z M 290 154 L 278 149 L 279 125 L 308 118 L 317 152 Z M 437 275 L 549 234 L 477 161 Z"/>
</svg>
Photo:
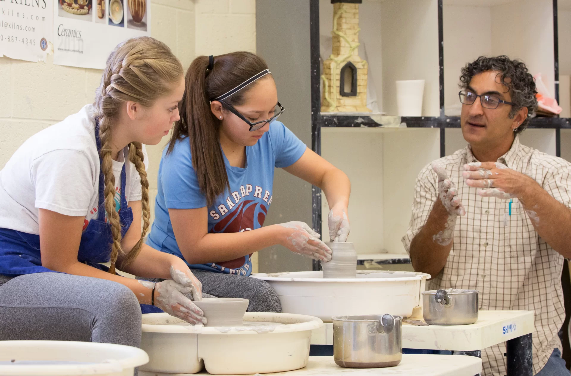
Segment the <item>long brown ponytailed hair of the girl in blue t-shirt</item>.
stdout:
<svg viewBox="0 0 571 376">
<path fill-rule="evenodd" d="M 186 72 L 186 89 L 180 102 L 180 120 L 172 129 L 167 154 L 174 149 L 178 139 L 189 138 L 192 151 L 192 167 L 198 177 L 198 185 L 210 206 L 230 187 L 224 158 L 220 149 L 220 120 L 210 110 L 210 100 L 219 97 L 268 66 L 264 59 L 246 51 L 238 51 L 214 57 L 214 67 L 207 72 L 208 57 L 199 56 Z M 244 94 L 252 84 L 225 99 L 232 106 L 243 104 Z"/>
</svg>

